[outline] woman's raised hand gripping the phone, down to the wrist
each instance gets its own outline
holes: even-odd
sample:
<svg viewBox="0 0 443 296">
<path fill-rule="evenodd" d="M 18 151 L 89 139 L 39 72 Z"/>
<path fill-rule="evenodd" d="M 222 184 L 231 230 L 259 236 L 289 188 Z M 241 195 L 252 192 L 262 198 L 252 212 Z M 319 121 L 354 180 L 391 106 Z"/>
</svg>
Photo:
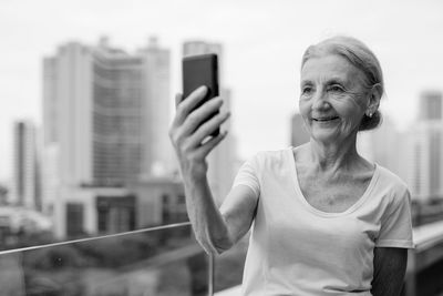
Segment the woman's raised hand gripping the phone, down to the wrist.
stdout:
<svg viewBox="0 0 443 296">
<path fill-rule="evenodd" d="M 227 134 L 224 132 L 204 141 L 230 115 L 229 112 L 220 111 L 207 120 L 222 106 L 223 100 L 219 96 L 195 109 L 206 92 L 206 86 L 200 86 L 183 101 L 182 94 L 175 96 L 176 114 L 169 129 L 169 137 L 178 156 L 183 176 L 206 177 L 206 156 Z"/>
</svg>

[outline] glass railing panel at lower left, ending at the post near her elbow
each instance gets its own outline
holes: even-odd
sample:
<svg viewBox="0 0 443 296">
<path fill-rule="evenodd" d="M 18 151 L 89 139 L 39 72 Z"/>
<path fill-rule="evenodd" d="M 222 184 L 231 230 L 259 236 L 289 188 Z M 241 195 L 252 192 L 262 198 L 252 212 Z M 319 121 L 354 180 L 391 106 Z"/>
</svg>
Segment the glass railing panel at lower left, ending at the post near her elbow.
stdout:
<svg viewBox="0 0 443 296">
<path fill-rule="evenodd" d="M 159 242 L 156 249 L 150 249 L 153 242 Z M 214 294 L 214 271 L 215 259 L 195 242 L 189 222 L 0 252 L 6 296 L 134 295 L 137 288 L 206 296 Z"/>
</svg>

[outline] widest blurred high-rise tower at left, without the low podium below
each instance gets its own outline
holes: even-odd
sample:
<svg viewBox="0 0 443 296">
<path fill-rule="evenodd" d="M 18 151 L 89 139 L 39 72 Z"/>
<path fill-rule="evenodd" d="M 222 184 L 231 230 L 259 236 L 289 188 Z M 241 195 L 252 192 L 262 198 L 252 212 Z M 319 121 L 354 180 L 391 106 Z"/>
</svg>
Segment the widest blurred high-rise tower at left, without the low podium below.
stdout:
<svg viewBox="0 0 443 296">
<path fill-rule="evenodd" d="M 122 185 L 172 171 L 169 51 L 151 39 L 128 54 L 102 39 L 44 60 L 45 145 L 60 146 L 63 184 Z"/>
</svg>

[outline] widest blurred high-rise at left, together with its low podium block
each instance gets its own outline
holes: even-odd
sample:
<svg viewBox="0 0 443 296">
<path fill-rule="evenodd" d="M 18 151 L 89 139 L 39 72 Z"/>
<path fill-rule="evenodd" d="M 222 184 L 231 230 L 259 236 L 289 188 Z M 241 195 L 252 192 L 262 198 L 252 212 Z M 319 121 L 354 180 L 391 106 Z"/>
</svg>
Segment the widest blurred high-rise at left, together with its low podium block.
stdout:
<svg viewBox="0 0 443 296">
<path fill-rule="evenodd" d="M 58 237 L 132 228 L 128 186 L 176 171 L 169 55 L 155 38 L 134 53 L 102 38 L 93 47 L 65 43 L 44 59 L 43 187 Z M 104 204 L 116 224 L 96 225 Z M 126 222 L 119 228 L 117 221 Z"/>
</svg>

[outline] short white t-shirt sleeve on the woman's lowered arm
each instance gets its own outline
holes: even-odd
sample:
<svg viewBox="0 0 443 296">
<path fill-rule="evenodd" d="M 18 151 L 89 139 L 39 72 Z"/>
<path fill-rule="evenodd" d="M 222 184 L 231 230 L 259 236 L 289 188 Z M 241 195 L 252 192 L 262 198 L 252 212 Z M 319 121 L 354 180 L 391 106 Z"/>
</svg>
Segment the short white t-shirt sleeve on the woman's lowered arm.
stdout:
<svg viewBox="0 0 443 296">
<path fill-rule="evenodd" d="M 382 220 L 377 247 L 413 248 L 411 195 L 408 190 L 394 196 Z"/>
</svg>

